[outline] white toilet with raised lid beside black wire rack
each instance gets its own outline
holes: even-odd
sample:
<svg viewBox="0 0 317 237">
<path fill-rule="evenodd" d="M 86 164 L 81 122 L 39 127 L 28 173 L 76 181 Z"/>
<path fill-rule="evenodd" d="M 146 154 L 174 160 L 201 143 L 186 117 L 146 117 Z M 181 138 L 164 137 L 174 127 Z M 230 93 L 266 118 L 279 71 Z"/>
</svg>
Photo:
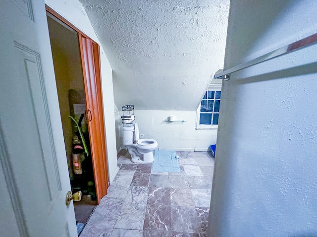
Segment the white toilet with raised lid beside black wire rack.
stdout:
<svg viewBox="0 0 317 237">
<path fill-rule="evenodd" d="M 135 139 L 133 139 L 133 132 Z M 123 145 L 128 148 L 132 162 L 151 163 L 154 160 L 153 151 L 158 147 L 158 142 L 153 139 L 139 139 L 139 127 L 136 123 L 134 126 L 123 127 Z"/>
</svg>

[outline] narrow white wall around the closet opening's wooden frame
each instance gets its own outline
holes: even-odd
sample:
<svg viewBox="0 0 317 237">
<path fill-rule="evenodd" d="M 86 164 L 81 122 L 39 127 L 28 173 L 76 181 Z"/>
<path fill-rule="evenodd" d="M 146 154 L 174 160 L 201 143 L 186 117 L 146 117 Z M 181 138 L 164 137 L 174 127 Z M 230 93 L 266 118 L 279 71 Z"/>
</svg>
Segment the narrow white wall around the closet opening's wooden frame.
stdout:
<svg viewBox="0 0 317 237">
<path fill-rule="evenodd" d="M 84 32 L 91 39 L 95 40 L 101 46 L 100 41 L 92 27 L 90 20 L 82 7 L 82 4 L 77 0 L 45 0 L 58 14 L 75 25 L 78 29 Z M 101 76 L 102 89 L 104 100 L 105 114 L 105 129 L 106 129 L 106 149 L 108 156 L 108 169 L 110 182 L 118 170 L 116 158 L 116 143 L 115 143 L 115 124 L 114 124 L 114 100 L 113 100 L 113 84 L 112 84 L 112 69 L 106 58 L 103 47 L 101 46 Z"/>
</svg>

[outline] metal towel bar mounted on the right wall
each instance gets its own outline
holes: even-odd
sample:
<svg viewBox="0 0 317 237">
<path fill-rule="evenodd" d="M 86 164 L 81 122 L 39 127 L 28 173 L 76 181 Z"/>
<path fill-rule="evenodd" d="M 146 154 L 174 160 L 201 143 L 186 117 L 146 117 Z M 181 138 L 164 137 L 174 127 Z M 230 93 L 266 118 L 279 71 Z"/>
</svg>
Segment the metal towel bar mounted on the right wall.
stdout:
<svg viewBox="0 0 317 237">
<path fill-rule="evenodd" d="M 237 72 L 237 71 L 242 70 L 244 68 L 251 67 L 251 66 L 256 65 L 258 63 L 262 63 L 262 62 L 267 61 L 269 59 L 276 58 L 276 57 L 279 57 L 281 55 L 288 54 L 290 52 L 294 52 L 298 49 L 307 47 L 307 46 L 315 44 L 315 43 L 317 43 L 317 33 L 314 35 L 311 35 L 309 37 L 306 37 L 302 40 L 298 40 L 296 42 L 285 45 L 284 47 L 275 49 L 275 50 L 273 50 L 269 53 L 266 53 L 260 57 L 257 57 L 255 59 L 248 61 L 248 62 L 239 64 L 239 65 L 232 67 L 230 69 L 227 69 L 225 71 L 220 69 L 215 73 L 214 78 L 215 79 L 229 80 L 231 73 Z"/>
</svg>

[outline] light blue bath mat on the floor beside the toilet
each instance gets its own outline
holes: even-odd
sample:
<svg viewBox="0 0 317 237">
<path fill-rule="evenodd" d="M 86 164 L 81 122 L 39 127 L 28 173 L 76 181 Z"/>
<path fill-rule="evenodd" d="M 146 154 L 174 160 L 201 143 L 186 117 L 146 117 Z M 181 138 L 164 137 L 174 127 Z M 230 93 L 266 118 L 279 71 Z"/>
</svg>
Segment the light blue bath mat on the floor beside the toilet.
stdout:
<svg viewBox="0 0 317 237">
<path fill-rule="evenodd" d="M 175 151 L 155 151 L 153 171 L 180 172 Z"/>
</svg>

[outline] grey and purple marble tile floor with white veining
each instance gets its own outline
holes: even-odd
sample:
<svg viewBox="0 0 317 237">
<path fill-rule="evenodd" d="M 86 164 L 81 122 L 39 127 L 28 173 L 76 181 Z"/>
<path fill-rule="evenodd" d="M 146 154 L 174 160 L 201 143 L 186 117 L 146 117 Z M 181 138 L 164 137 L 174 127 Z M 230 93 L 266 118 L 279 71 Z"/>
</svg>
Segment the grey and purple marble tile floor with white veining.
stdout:
<svg viewBox="0 0 317 237">
<path fill-rule="evenodd" d="M 180 173 L 118 155 L 119 171 L 80 237 L 207 237 L 214 158 L 176 152 Z"/>
</svg>

